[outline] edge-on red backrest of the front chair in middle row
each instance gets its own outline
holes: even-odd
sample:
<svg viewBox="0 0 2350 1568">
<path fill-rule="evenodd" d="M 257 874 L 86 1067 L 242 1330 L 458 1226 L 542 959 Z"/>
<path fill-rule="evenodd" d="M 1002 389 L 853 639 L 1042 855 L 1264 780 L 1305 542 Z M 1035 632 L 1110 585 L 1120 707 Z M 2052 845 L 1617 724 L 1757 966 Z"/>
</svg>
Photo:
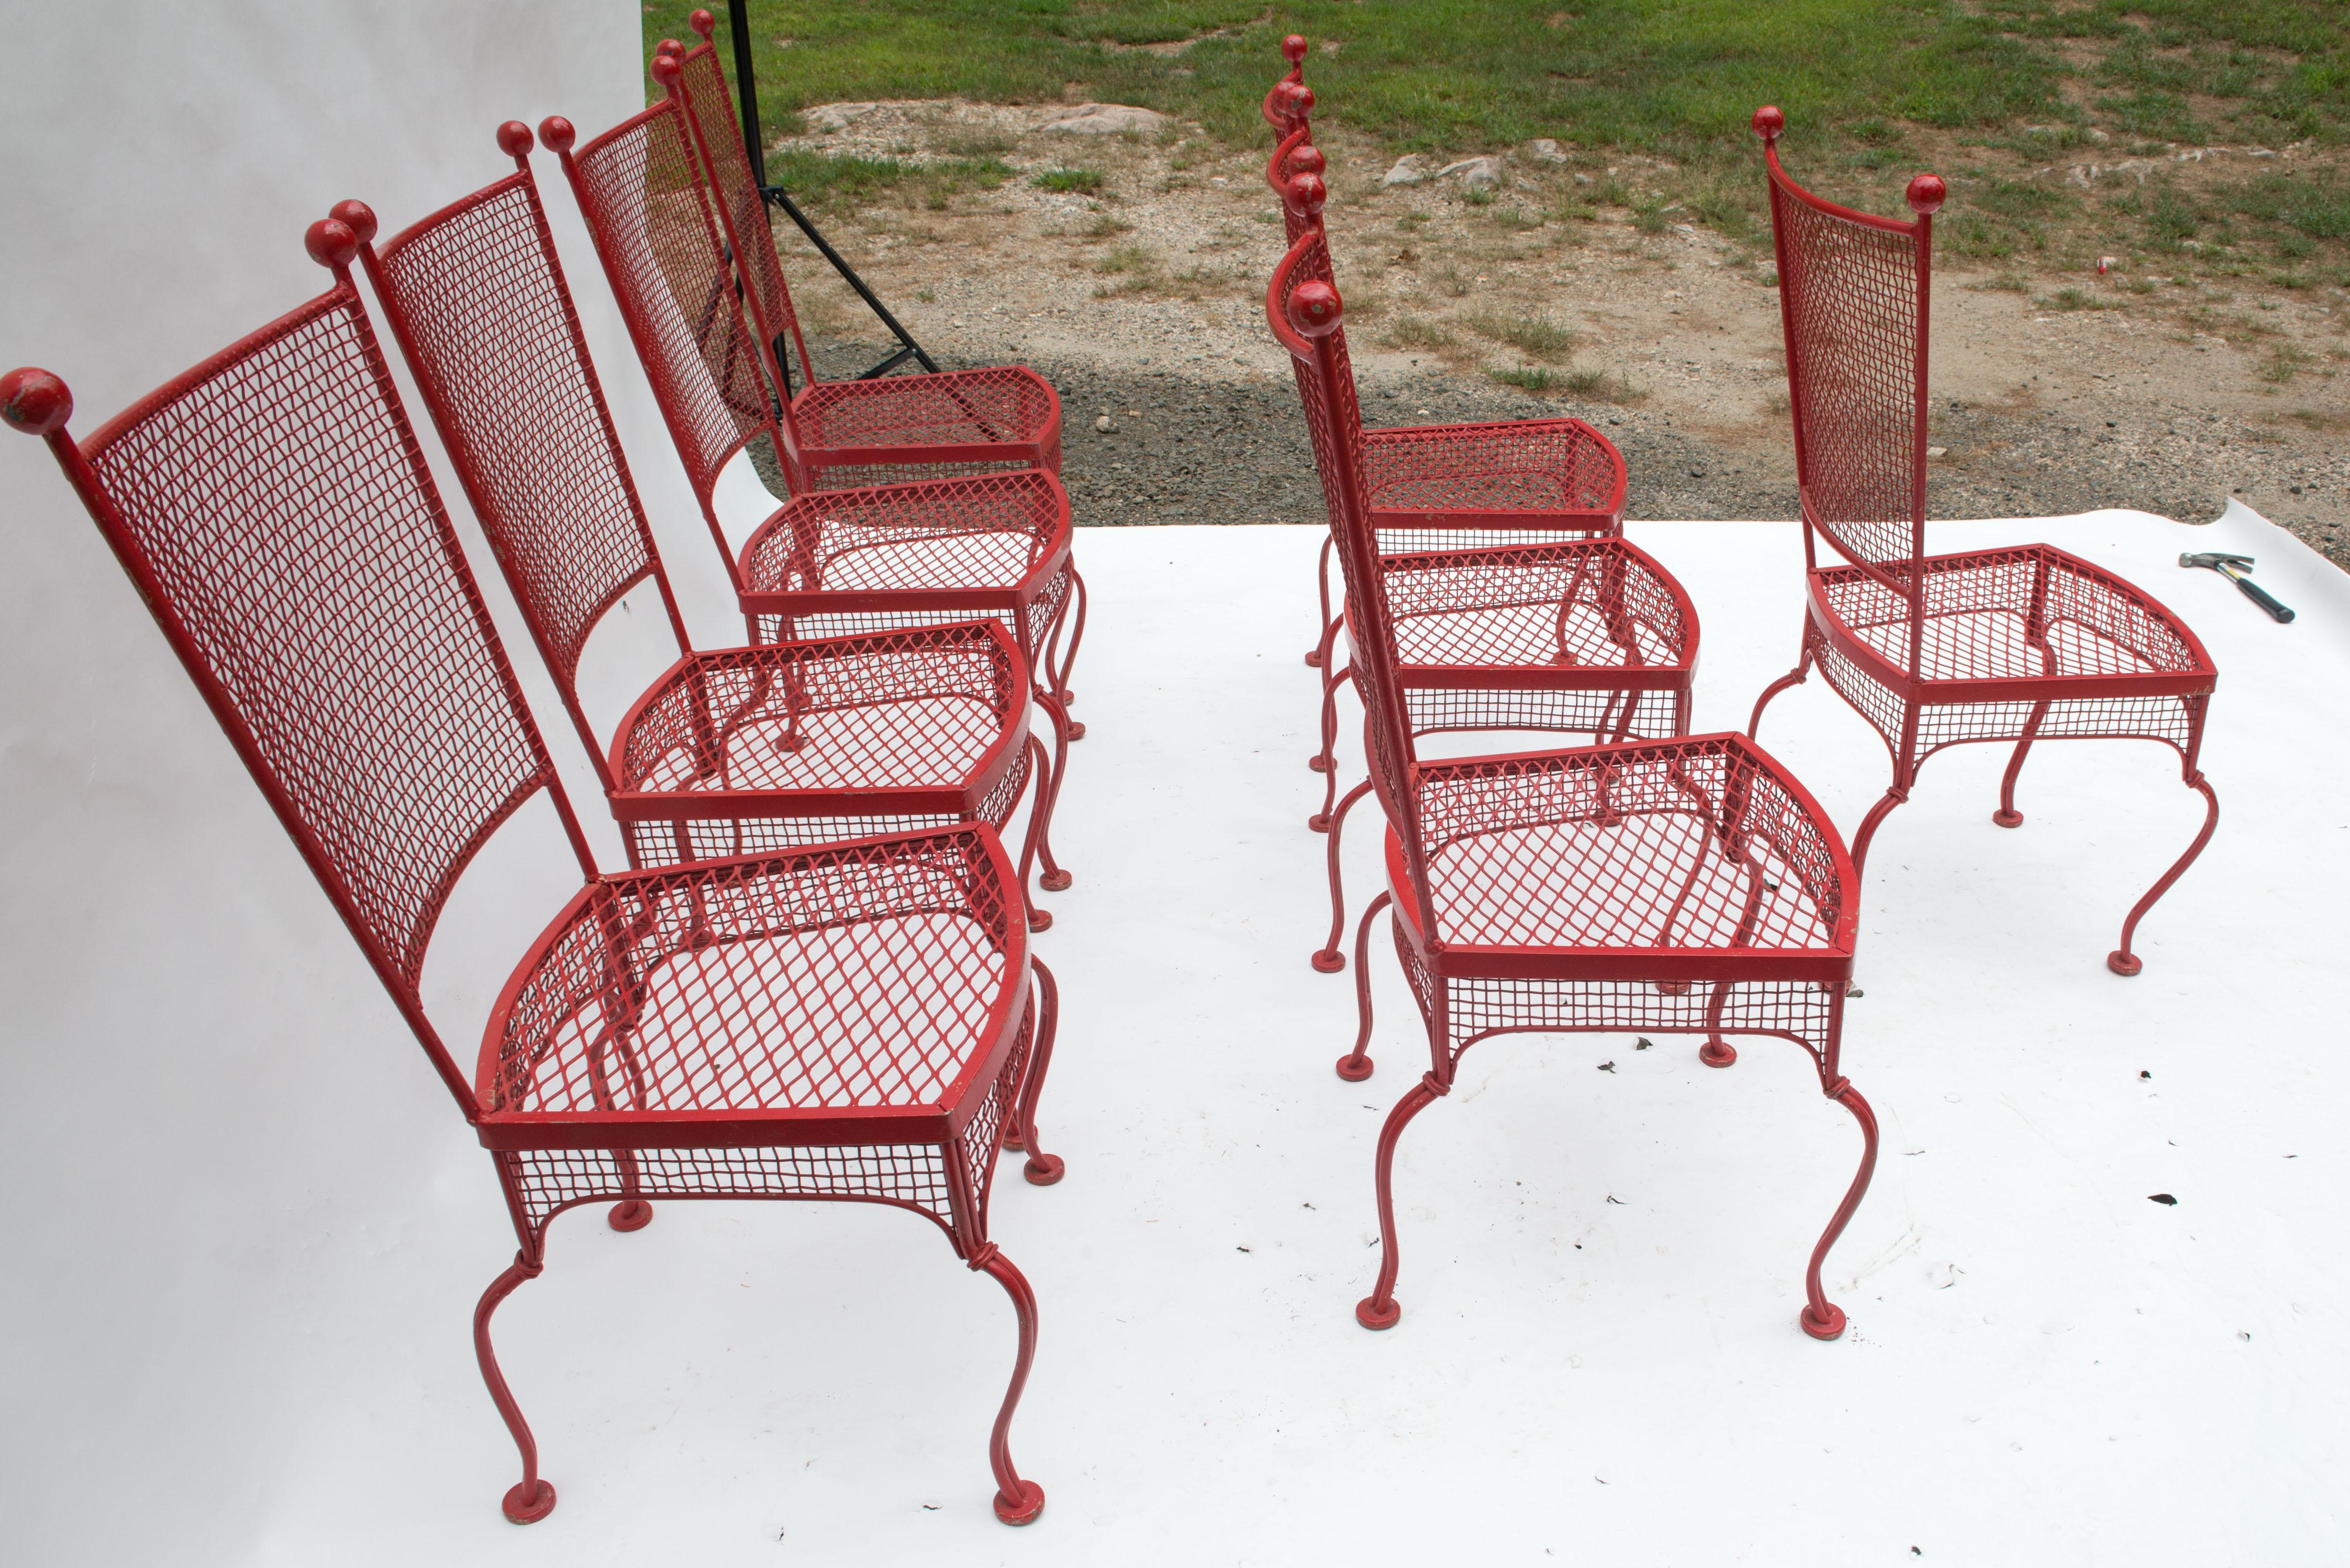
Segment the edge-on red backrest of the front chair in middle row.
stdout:
<svg viewBox="0 0 2350 1568">
<path fill-rule="evenodd" d="M 1267 315 L 1288 326 L 1288 303 L 1300 286 L 1330 282 L 1330 251 L 1314 223 L 1290 246 L 1274 270 L 1267 291 Z M 1370 777 L 1379 800 L 1403 836 L 1412 857 L 1412 876 L 1424 878 L 1419 845 L 1419 810 L 1412 800 L 1412 742 L 1403 707 L 1403 676 L 1396 664 L 1394 613 L 1386 603 L 1386 577 L 1379 570 L 1379 545 L 1370 526 L 1368 484 L 1363 474 L 1363 418 L 1356 406 L 1354 371 L 1347 364 L 1344 329 L 1328 333 L 1300 352 L 1276 326 L 1283 347 L 1297 364 L 1297 397 L 1304 404 L 1307 432 L 1314 437 L 1314 467 L 1321 474 L 1323 502 L 1330 509 L 1330 533 L 1337 540 L 1340 570 L 1347 580 L 1347 613 L 1354 627 L 1354 678 L 1363 688 L 1363 732 L 1370 751 Z M 1295 329 L 1290 329 L 1295 331 Z M 1422 887 L 1422 892 L 1426 892 Z"/>
</svg>

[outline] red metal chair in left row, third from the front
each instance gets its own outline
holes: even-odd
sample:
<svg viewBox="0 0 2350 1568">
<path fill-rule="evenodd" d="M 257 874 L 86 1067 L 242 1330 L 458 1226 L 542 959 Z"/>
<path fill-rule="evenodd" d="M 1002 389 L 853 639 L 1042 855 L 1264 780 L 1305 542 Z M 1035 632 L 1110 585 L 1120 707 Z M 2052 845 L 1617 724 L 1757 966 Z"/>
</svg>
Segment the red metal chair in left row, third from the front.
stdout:
<svg viewBox="0 0 2350 1568">
<path fill-rule="evenodd" d="M 792 474 L 799 437 L 790 408 L 778 418 L 759 390 L 757 345 L 693 185 L 684 110 L 663 99 L 576 150 L 569 120 L 550 117 L 538 131 L 578 197 L 752 641 L 1003 622 L 1053 723 L 1053 761 L 1036 784 L 1036 885 L 1067 887 L 1069 871 L 1053 854 L 1053 805 L 1069 742 L 1086 728 L 1055 695 L 1067 674 L 1060 634 L 1074 582 L 1060 479 L 1010 469 L 855 491 L 794 481 L 792 500 L 738 549 L 719 509 L 728 465 L 766 439 Z"/>
</svg>

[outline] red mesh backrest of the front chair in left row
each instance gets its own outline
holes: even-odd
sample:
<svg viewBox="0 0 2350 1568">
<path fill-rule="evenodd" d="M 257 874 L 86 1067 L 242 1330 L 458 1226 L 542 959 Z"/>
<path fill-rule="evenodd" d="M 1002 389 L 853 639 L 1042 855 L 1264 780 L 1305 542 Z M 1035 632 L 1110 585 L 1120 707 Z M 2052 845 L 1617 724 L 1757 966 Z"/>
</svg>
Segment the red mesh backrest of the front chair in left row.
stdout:
<svg viewBox="0 0 2350 1568">
<path fill-rule="evenodd" d="M 82 448 L 127 545 L 409 988 L 545 744 L 348 279 Z M 284 807 L 280 807 L 284 810 Z"/>
</svg>

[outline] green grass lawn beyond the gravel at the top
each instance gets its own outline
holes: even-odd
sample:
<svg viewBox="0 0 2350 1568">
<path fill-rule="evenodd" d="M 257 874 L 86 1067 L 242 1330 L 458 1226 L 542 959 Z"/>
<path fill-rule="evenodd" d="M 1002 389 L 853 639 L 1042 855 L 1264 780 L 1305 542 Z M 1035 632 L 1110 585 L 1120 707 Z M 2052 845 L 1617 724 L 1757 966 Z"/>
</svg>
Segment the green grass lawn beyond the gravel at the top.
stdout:
<svg viewBox="0 0 2350 1568">
<path fill-rule="evenodd" d="M 2117 249 L 2195 275 L 2350 286 L 2343 0 L 747 5 L 771 131 L 792 129 L 797 108 L 851 99 L 1100 99 L 1255 146 L 1276 45 L 1297 31 L 1316 45 L 1318 124 L 1389 153 L 1471 155 L 1532 136 L 1596 162 L 1640 153 L 1671 169 L 1645 197 L 1657 221 L 1755 237 L 1746 117 L 1770 101 L 1788 113 L 1798 176 L 1833 195 L 1896 211 L 1908 171 L 1932 160 L 1953 176 L 1941 225 L 1953 258 L 2021 277 Z M 686 38 L 689 9 L 646 5 L 646 49 Z M 2073 162 L 2204 143 L 2301 150 L 2291 164 L 2228 160 L 2092 188 L 2063 178 Z M 818 204 L 905 185 L 947 207 L 1008 169 L 989 148 L 952 169 L 797 153 L 773 176 Z"/>
</svg>

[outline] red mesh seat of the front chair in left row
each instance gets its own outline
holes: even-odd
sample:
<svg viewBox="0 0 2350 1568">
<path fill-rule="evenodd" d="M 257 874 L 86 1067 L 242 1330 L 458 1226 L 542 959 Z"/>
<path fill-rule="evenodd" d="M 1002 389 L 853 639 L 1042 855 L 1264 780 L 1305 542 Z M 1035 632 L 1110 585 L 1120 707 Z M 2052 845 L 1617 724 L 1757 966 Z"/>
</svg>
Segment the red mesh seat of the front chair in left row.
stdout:
<svg viewBox="0 0 2350 1568">
<path fill-rule="evenodd" d="M 486 1117 L 942 1106 L 1006 1016 L 1013 908 L 971 829 L 604 878 L 491 1021 Z"/>
</svg>

